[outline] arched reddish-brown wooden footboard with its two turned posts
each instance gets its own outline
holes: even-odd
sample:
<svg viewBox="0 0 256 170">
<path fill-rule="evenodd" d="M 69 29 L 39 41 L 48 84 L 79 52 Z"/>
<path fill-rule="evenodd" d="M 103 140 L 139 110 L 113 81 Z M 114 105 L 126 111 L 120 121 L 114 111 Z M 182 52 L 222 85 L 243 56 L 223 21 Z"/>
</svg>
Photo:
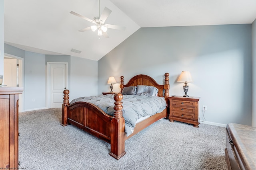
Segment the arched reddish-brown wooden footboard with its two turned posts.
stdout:
<svg viewBox="0 0 256 170">
<path fill-rule="evenodd" d="M 88 102 L 75 102 L 69 105 L 69 90 L 64 90 L 62 104 L 62 126 L 75 125 L 80 129 L 111 144 L 110 155 L 116 159 L 126 154 L 124 151 L 124 117 L 121 93 L 114 95 L 114 116 Z"/>
</svg>

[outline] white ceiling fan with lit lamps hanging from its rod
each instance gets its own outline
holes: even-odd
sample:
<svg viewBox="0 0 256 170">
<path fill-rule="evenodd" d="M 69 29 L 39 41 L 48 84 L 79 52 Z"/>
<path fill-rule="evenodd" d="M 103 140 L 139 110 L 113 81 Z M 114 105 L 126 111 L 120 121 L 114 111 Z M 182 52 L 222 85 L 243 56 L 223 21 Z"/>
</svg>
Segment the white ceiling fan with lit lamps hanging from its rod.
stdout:
<svg viewBox="0 0 256 170">
<path fill-rule="evenodd" d="M 121 29 L 121 30 L 125 30 L 125 27 L 123 26 L 119 26 L 119 25 L 111 25 L 111 24 L 106 24 L 105 21 L 107 20 L 108 16 L 110 15 L 112 11 L 108 8 L 104 8 L 101 16 L 100 16 L 100 0 L 99 0 L 99 16 L 94 17 L 93 20 L 82 16 L 80 14 L 77 14 L 76 12 L 71 11 L 70 14 L 73 14 L 75 16 L 78 16 L 80 18 L 83 18 L 84 20 L 90 21 L 92 23 L 94 23 L 95 25 L 92 25 L 90 27 L 86 27 L 84 29 L 80 29 L 78 31 L 80 32 L 84 32 L 84 31 L 88 31 L 88 30 L 92 30 L 92 31 L 96 31 L 98 29 L 98 36 L 100 37 L 101 35 L 103 35 L 105 38 L 108 38 L 108 34 L 107 34 L 107 29 L 111 28 L 111 29 Z"/>
</svg>

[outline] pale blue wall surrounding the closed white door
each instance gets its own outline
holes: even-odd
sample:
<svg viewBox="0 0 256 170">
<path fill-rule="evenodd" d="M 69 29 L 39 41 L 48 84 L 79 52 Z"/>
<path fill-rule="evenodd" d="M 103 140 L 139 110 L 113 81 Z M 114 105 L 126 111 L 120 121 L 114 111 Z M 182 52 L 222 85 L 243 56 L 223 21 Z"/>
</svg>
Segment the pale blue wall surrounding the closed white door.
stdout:
<svg viewBox="0 0 256 170">
<path fill-rule="evenodd" d="M 46 63 L 68 63 L 70 100 L 97 95 L 97 61 L 67 55 L 43 55 L 4 45 L 7 55 L 24 59 L 24 111 L 46 108 Z M 71 82 L 71 80 L 73 80 Z M 84 89 L 81 91 L 81 89 Z M 74 97 L 73 97 L 74 96 Z M 32 102 L 35 99 L 35 102 Z"/>
</svg>

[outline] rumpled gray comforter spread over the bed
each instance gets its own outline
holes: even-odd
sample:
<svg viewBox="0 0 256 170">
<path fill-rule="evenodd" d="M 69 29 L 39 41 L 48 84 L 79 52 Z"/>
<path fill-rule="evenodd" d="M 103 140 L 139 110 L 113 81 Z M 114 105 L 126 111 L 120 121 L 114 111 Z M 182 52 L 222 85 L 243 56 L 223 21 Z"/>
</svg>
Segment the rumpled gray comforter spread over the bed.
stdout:
<svg viewBox="0 0 256 170">
<path fill-rule="evenodd" d="M 157 96 L 136 96 L 123 95 L 123 117 L 125 120 L 125 132 L 129 136 L 136 125 L 136 121 L 141 117 L 147 115 L 154 115 L 160 113 L 166 108 L 166 101 L 164 98 Z M 74 102 L 90 102 L 100 107 L 108 115 L 114 114 L 114 95 L 100 95 L 81 97 L 72 100 Z"/>
</svg>

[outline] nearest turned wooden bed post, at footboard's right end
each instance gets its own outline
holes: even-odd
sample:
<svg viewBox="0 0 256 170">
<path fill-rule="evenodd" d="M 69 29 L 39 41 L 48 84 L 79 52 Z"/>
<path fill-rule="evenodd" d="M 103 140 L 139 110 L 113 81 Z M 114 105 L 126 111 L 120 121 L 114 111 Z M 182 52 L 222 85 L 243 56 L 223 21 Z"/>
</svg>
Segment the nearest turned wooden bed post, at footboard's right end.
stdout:
<svg viewBox="0 0 256 170">
<path fill-rule="evenodd" d="M 124 151 L 124 117 L 123 117 L 123 106 L 121 102 L 123 95 L 116 93 L 114 95 L 114 117 L 111 120 L 111 149 L 110 156 L 120 159 L 126 154 Z"/>
</svg>

